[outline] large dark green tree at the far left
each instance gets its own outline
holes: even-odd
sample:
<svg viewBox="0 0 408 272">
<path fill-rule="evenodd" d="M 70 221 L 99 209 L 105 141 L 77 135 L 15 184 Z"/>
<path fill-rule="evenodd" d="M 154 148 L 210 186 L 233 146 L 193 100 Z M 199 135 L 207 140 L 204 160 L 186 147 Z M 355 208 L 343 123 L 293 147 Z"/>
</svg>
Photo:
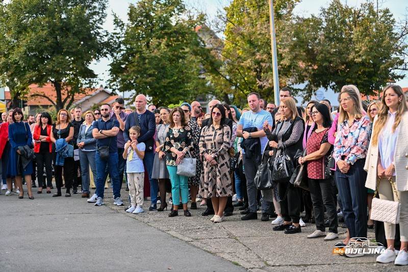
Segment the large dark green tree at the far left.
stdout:
<svg viewBox="0 0 408 272">
<path fill-rule="evenodd" d="M 89 68 L 106 56 L 101 29 L 107 0 L 12 0 L 0 5 L 0 83 L 14 98 L 30 84 L 51 82 L 57 110 L 97 78 Z"/>
</svg>

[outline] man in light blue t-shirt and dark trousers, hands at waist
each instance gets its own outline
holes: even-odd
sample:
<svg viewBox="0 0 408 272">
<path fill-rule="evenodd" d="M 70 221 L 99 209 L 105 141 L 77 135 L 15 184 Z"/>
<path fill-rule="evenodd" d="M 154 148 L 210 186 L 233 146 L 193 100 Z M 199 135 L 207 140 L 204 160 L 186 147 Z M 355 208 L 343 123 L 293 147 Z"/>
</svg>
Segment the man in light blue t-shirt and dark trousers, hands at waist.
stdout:
<svg viewBox="0 0 408 272">
<path fill-rule="evenodd" d="M 260 98 L 261 97 L 259 93 L 256 93 L 256 92 L 251 92 L 250 94 L 248 94 L 247 100 L 248 100 L 249 108 L 251 110 L 244 112 L 241 115 L 241 118 L 239 119 L 239 122 L 238 122 L 238 128 L 237 128 L 237 133 L 236 133 L 237 137 L 243 137 L 245 140 L 259 138 L 260 145 L 261 145 L 260 146 L 261 154 L 252 154 L 251 158 L 248 158 L 245 155 L 245 149 L 244 148 L 242 149 L 242 161 L 243 161 L 244 170 L 245 170 L 246 187 L 248 191 L 248 204 L 249 204 L 249 208 L 245 210 L 244 212 L 242 212 L 242 214 L 246 214 L 245 216 L 241 218 L 242 220 L 258 218 L 258 214 L 257 214 L 258 189 L 257 187 L 255 187 L 253 180 L 255 178 L 255 175 L 257 174 L 258 165 L 260 165 L 261 162 L 260 161 L 257 162 L 256 157 L 262 156 L 262 153 L 265 149 L 265 145 L 268 142 L 268 138 L 266 138 L 265 131 L 263 129 L 264 122 L 265 121 L 268 121 L 269 123 L 273 122 L 271 114 L 261 109 Z M 253 132 L 248 132 L 248 130 L 250 129 L 252 129 Z M 272 128 L 269 126 L 269 129 L 271 130 Z M 266 197 L 264 197 L 262 200 L 262 220 L 263 221 L 266 220 L 266 217 L 269 220 L 268 210 L 270 206 L 270 201 L 272 201 L 272 194 L 264 195 L 264 196 Z"/>
</svg>

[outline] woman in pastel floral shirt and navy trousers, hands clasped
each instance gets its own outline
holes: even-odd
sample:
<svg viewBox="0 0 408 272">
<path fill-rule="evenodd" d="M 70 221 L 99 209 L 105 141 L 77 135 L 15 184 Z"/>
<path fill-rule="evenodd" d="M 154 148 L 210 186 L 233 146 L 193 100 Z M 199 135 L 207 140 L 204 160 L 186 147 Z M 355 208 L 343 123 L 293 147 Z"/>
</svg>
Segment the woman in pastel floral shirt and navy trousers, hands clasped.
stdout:
<svg viewBox="0 0 408 272">
<path fill-rule="evenodd" d="M 371 130 L 370 120 L 363 113 L 357 87 L 344 86 L 339 95 L 339 104 L 341 107 L 334 144 L 336 183 L 350 237 L 366 237 L 367 173 L 363 167 Z"/>
</svg>

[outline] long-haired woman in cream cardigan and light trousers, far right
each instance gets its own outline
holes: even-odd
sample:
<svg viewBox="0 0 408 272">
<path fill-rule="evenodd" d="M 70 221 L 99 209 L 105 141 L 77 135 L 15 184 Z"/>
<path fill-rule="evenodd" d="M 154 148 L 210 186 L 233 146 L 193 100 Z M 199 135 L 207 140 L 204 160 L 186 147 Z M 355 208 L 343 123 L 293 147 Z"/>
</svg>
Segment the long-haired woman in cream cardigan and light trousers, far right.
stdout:
<svg viewBox="0 0 408 272">
<path fill-rule="evenodd" d="M 395 225 L 384 223 L 387 250 L 377 257 L 377 262 L 396 265 L 408 264 L 408 109 L 400 86 L 384 88 L 379 113 L 374 119 L 368 156 L 364 169 L 368 171 L 366 187 L 376 189 L 380 199 L 398 201 L 394 182 L 401 203 L 401 250 L 394 252 Z"/>
</svg>

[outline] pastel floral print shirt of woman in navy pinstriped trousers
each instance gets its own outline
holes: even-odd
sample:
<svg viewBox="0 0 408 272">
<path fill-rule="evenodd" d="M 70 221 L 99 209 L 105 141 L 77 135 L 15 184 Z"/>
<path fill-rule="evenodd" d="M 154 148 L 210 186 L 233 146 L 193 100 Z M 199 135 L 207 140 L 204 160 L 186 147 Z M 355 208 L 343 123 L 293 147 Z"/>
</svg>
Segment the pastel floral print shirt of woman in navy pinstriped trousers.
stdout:
<svg viewBox="0 0 408 272">
<path fill-rule="evenodd" d="M 334 144 L 336 163 L 342 160 L 342 157 L 347 164 L 351 165 L 359 159 L 366 158 L 370 133 L 370 119 L 366 115 L 355 118 L 350 127 L 347 120 L 340 123 Z"/>
</svg>

